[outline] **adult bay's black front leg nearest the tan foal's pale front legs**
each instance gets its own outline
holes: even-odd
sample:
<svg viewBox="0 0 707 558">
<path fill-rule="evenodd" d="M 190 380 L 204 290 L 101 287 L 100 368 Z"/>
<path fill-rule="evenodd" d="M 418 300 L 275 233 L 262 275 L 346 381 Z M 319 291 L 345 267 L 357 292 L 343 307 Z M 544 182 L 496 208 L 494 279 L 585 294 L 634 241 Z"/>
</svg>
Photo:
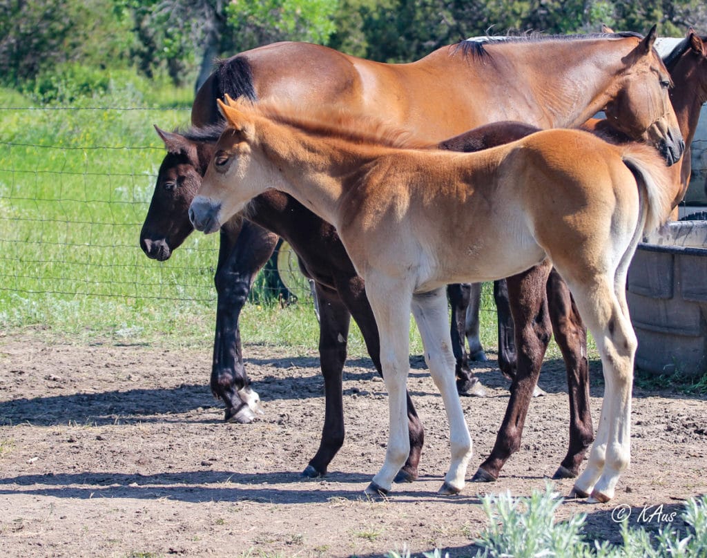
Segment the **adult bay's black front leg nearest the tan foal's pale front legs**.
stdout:
<svg viewBox="0 0 707 558">
<path fill-rule="evenodd" d="M 477 397 L 484 397 L 486 395 L 484 385 L 481 384 L 479 378 L 474 376 L 474 373 L 469 368 L 469 354 L 467 354 L 467 345 L 464 338 L 466 332 L 467 308 L 469 308 L 469 298 L 472 296 L 472 287 L 479 285 L 481 284 L 457 283 L 448 285 L 447 296 L 449 298 L 450 306 L 452 307 L 450 332 L 452 335 L 452 351 L 454 352 L 456 361 L 455 375 L 457 377 L 457 392 L 459 395 L 476 395 Z M 480 289 L 477 290 L 479 291 L 480 296 L 481 291 Z M 478 330 L 479 325 L 477 316 L 477 334 Z M 480 346 L 481 342 L 479 341 L 479 347 Z M 485 361 L 486 354 L 484 354 L 483 349 L 481 349 L 481 354 L 483 354 L 484 357 L 483 359 L 478 360 Z"/>
</svg>

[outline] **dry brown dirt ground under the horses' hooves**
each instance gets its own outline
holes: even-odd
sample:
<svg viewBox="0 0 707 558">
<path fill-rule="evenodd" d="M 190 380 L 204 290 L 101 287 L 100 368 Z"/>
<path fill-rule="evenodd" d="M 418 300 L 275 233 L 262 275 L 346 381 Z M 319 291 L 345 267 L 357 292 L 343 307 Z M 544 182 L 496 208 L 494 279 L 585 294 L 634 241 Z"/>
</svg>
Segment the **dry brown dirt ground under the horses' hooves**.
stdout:
<svg viewBox="0 0 707 558">
<path fill-rule="evenodd" d="M 387 439 L 385 387 L 368 359 L 344 377 L 347 438 L 325 479 L 299 472 L 317 448 L 324 399 L 314 351 L 246 345 L 265 413 L 254 424 L 223 424 L 208 387 L 211 351 L 154 346 L 74 346 L 37 337 L 0 339 L 0 555 L 156 557 L 373 557 L 435 547 L 474 554 L 486 525 L 479 494 L 544 489 L 564 455 L 563 368 L 546 362 L 545 397 L 532 403 L 520 452 L 495 484 L 438 496 L 448 463 L 448 426 L 419 357 L 409 388 L 426 426 L 421 479 L 385 501 L 363 489 Z M 469 477 L 491 449 L 508 402 L 495 366 L 477 366 L 484 400 L 463 400 L 474 438 Z M 598 378 L 598 364 L 592 365 Z M 602 387 L 592 385 L 599 417 Z M 568 500 L 559 516 L 587 513 L 588 535 L 619 540 L 611 515 L 643 515 L 656 529 L 707 492 L 707 401 L 636 388 L 633 461 L 609 504 Z M 567 494 L 571 481 L 556 483 Z M 648 508 L 655 511 L 658 508 Z"/>
</svg>

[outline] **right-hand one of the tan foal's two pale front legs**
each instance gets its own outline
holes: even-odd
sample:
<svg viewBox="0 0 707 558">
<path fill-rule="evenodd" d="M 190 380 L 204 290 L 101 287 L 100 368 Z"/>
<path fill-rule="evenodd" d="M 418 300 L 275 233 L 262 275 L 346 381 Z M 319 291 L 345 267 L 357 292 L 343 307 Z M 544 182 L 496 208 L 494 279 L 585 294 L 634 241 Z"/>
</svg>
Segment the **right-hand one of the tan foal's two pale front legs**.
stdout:
<svg viewBox="0 0 707 558">
<path fill-rule="evenodd" d="M 415 295 L 412 313 L 422 337 L 425 361 L 447 412 L 450 429 L 450 467 L 440 494 L 457 494 L 472 456 L 472 439 L 455 385 L 454 355 L 447 326 L 447 299 L 443 289 Z"/>
</svg>

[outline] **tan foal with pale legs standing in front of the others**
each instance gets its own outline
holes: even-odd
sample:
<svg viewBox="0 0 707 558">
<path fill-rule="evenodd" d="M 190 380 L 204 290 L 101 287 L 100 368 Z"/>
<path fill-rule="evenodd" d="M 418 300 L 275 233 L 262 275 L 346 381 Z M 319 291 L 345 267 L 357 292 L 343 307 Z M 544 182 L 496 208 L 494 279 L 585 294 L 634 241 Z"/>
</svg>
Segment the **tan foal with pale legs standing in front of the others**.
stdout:
<svg viewBox="0 0 707 558">
<path fill-rule="evenodd" d="M 190 219 L 214 233 L 276 188 L 337 228 L 366 281 L 389 396 L 385 463 L 367 492 L 388 492 L 409 455 L 410 310 L 450 425 L 440 492 L 455 494 L 464 486 L 471 438 L 455 389 L 445 285 L 509 277 L 548 260 L 547 271 L 554 265 L 567 281 L 597 339 L 606 385 L 597 441 L 574 492 L 611 499 L 630 460 L 636 336 L 626 272 L 643 233 L 667 217 L 674 197 L 655 149 L 566 129 L 476 153 L 401 149 L 399 138 L 361 117 L 228 102 L 219 105 L 229 127 Z"/>
</svg>

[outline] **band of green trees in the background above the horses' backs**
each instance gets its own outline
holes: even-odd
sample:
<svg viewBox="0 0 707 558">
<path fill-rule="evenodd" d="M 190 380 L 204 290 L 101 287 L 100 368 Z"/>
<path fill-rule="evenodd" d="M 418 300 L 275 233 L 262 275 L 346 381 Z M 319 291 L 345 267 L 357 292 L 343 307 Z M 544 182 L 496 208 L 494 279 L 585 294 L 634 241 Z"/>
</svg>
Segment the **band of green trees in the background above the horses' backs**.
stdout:
<svg viewBox="0 0 707 558">
<path fill-rule="evenodd" d="M 279 40 L 409 62 L 462 38 L 588 33 L 602 23 L 707 33 L 703 0 L 0 0 L 0 82 L 22 86 L 66 64 L 132 64 L 197 85 L 216 57 Z M 46 77 L 42 78 L 46 82 Z M 52 78 L 54 79 L 54 78 Z"/>
</svg>

